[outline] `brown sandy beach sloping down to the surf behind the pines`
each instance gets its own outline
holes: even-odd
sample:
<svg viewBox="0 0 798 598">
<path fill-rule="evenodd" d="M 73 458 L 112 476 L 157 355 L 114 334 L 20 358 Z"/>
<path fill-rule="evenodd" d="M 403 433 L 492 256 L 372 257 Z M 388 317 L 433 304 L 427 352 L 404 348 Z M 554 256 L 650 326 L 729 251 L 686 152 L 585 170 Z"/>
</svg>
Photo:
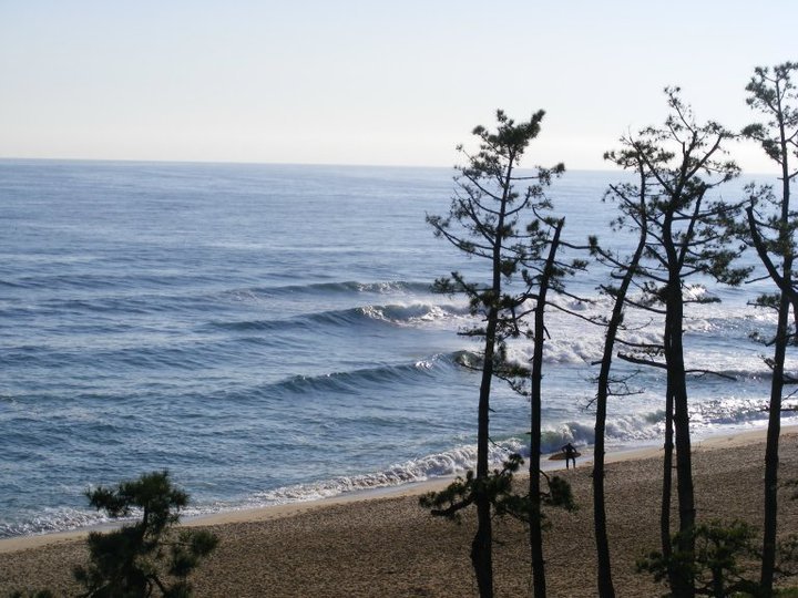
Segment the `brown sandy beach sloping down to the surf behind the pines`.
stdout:
<svg viewBox="0 0 798 598">
<path fill-rule="evenodd" d="M 743 518 L 761 526 L 764 432 L 694 443 L 698 517 Z M 781 436 L 782 481 L 798 478 L 798 431 Z M 613 578 L 620 597 L 648 597 L 665 588 L 635 573 L 635 560 L 658 547 L 661 451 L 607 455 L 606 497 Z M 548 509 L 545 533 L 549 596 L 595 596 L 590 460 L 557 471 L 571 482 L 575 513 Z M 440 486 L 440 483 L 438 484 Z M 429 486 L 401 493 L 355 495 L 332 502 L 241 512 L 193 522 L 221 538 L 194 577 L 198 597 L 477 596 L 469 561 L 473 512 L 462 525 L 431 517 L 418 506 Z M 780 492 L 780 533 L 798 533 L 798 501 Z M 674 499 L 675 502 L 675 499 Z M 675 523 L 674 517 L 674 523 Z M 74 595 L 71 568 L 85 559 L 79 535 L 0 542 L 0 596 L 13 589 L 50 587 Z M 524 527 L 494 527 L 498 597 L 530 596 Z M 798 582 L 797 582 L 798 585 Z"/>
</svg>

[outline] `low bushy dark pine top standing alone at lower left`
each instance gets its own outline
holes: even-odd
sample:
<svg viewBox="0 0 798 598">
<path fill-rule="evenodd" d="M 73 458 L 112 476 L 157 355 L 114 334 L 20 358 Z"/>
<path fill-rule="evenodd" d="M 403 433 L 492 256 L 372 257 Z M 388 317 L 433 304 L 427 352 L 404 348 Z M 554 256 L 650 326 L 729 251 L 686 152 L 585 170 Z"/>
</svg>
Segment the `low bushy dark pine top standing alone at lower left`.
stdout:
<svg viewBox="0 0 798 598">
<path fill-rule="evenodd" d="M 109 516 L 141 513 L 141 520 L 106 534 L 89 535 L 88 567 L 74 577 L 92 598 L 193 596 L 188 576 L 218 544 L 209 532 L 175 530 L 188 495 L 176 488 L 168 472 L 153 472 L 114 488 L 86 493 L 90 504 Z"/>
</svg>

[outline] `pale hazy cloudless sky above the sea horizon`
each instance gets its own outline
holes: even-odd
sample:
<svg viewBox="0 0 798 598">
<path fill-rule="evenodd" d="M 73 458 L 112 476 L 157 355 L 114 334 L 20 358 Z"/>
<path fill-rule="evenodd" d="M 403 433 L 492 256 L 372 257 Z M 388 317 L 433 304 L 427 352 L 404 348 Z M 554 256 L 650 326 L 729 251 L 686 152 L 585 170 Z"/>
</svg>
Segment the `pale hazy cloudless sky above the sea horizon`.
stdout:
<svg viewBox="0 0 798 598">
<path fill-rule="evenodd" d="M 0 0 L 0 157 L 449 166 L 503 107 L 546 111 L 532 163 L 602 168 L 668 84 L 747 124 L 797 23 L 796 0 Z"/>
</svg>

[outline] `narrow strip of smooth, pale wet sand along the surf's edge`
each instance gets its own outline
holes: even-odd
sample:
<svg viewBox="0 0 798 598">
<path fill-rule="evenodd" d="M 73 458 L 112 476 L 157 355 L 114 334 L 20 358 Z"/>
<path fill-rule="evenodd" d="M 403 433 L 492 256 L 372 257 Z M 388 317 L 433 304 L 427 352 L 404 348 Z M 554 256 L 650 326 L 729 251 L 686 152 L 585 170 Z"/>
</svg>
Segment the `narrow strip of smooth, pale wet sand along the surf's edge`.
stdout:
<svg viewBox="0 0 798 598">
<path fill-rule="evenodd" d="M 798 425 L 782 426 L 781 429 L 782 436 L 795 433 L 798 433 Z M 766 435 L 767 429 L 764 427 L 734 432 L 718 432 L 717 434 L 712 434 L 709 436 L 694 441 L 693 452 L 695 453 L 696 451 L 700 450 L 713 450 L 740 446 L 745 444 L 755 444 L 758 442 L 764 442 Z M 579 467 L 593 466 L 592 447 L 593 445 L 590 445 L 589 447 L 582 447 L 583 454 L 579 460 Z M 661 452 L 662 446 L 658 444 L 655 445 L 652 443 L 642 446 L 628 445 L 616 451 L 607 452 L 605 463 L 611 464 L 626 461 L 645 460 L 654 457 Z M 545 455 L 542 463 L 542 470 L 546 472 L 560 471 L 565 468 L 564 465 L 562 465 L 562 462 L 557 462 L 557 464 L 551 464 L 552 466 L 550 467 L 545 466 L 549 464 Z M 523 475 L 523 471 L 520 475 Z M 181 525 L 190 527 L 206 527 L 235 523 L 265 522 L 282 517 L 290 517 L 295 514 L 306 513 L 308 511 L 324 509 L 326 507 L 347 505 L 350 503 L 376 501 L 380 498 L 391 497 L 420 496 L 421 494 L 428 492 L 438 492 L 442 489 L 454 478 L 456 476 L 451 475 L 444 477 L 436 477 L 433 480 L 426 480 L 421 482 L 412 482 L 398 486 L 385 486 L 372 489 L 355 491 L 350 493 L 339 494 L 337 496 L 330 496 L 327 498 L 299 501 L 295 503 L 285 503 L 279 505 L 266 505 L 250 508 L 232 509 L 219 513 L 185 516 Z M 48 546 L 50 544 L 59 544 L 75 539 L 82 539 L 88 537 L 91 532 L 102 532 L 111 529 L 113 527 L 115 527 L 114 523 L 105 523 L 101 525 L 86 526 L 64 532 L 52 532 L 44 534 L 33 534 L 29 536 L 0 538 L 0 554 L 39 548 L 42 546 Z"/>
</svg>

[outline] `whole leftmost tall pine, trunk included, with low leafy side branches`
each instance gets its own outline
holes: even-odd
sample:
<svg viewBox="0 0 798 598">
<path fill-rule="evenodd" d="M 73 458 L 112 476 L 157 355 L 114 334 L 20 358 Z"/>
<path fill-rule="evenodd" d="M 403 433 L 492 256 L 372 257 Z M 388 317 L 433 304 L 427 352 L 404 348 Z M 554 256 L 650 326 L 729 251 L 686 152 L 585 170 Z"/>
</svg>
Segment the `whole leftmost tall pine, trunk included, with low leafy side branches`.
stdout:
<svg viewBox="0 0 798 598">
<path fill-rule="evenodd" d="M 531 210 L 545 205 L 543 194 L 552 176 L 564 172 L 557 164 L 532 175 L 518 172 L 529 143 L 538 136 L 544 112 L 539 111 L 522 123 L 515 123 L 502 111 L 497 112 L 497 128 L 473 130 L 479 148 L 471 154 L 459 146 L 464 165 L 458 167 L 454 194 L 449 214 L 428 216 L 437 236 L 449 240 L 469 257 L 487 260 L 487 281 L 468 281 L 458 271 L 436 281 L 437 290 L 462 293 L 471 313 L 479 318 L 463 333 L 482 340 L 482 367 L 479 390 L 477 430 L 477 472 L 469 472 L 448 491 L 428 496 L 422 504 L 434 514 L 453 515 L 474 504 L 478 528 L 471 547 L 471 561 L 480 596 L 493 596 L 492 509 L 510 489 L 510 480 L 520 457 L 511 457 L 501 471 L 491 472 L 489 463 L 491 384 L 494 377 L 512 379 L 519 371 L 507 361 L 507 343 L 520 334 L 518 310 L 528 296 L 511 290 L 511 283 L 523 275 L 524 260 L 534 254 L 544 231 L 528 229 L 522 221 Z M 519 188 L 521 187 L 521 188 Z M 442 508 L 443 504 L 449 504 Z"/>
</svg>

